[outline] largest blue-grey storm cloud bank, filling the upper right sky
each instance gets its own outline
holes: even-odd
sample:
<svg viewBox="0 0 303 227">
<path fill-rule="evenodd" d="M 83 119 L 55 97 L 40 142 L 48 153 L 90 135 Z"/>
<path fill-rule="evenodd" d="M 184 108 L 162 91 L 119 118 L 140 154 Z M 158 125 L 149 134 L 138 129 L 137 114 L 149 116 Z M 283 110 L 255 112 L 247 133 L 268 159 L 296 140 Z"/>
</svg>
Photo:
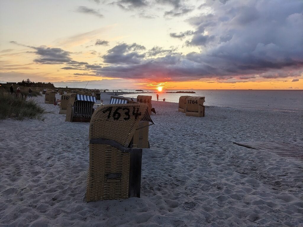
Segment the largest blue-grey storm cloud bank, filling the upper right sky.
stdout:
<svg viewBox="0 0 303 227">
<path fill-rule="evenodd" d="M 178 1 L 174 4 L 181 5 Z M 210 7 L 212 14 L 187 20 L 195 30 L 185 42 L 201 52 L 167 53 L 155 58 L 157 55 L 151 51 L 128 51 L 128 45 L 124 44 L 104 56 L 110 65 L 98 72 L 111 77 L 157 81 L 159 78 L 239 81 L 302 74 L 303 29 L 298 29 L 303 27 L 302 1 L 207 1 L 205 7 Z M 182 38 L 183 33 L 172 33 L 171 37 Z M 154 52 L 157 50 L 161 49 L 155 48 Z"/>
</svg>

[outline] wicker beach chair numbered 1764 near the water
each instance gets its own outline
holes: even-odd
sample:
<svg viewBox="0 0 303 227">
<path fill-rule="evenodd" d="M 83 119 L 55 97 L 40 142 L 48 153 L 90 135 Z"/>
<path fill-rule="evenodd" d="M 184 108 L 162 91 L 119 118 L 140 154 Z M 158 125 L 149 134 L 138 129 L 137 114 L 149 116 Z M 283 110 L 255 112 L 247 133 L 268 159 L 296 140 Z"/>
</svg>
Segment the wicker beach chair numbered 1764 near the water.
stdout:
<svg viewBox="0 0 303 227">
<path fill-rule="evenodd" d="M 186 98 L 185 116 L 204 117 L 205 97 L 188 97 Z"/>
</svg>

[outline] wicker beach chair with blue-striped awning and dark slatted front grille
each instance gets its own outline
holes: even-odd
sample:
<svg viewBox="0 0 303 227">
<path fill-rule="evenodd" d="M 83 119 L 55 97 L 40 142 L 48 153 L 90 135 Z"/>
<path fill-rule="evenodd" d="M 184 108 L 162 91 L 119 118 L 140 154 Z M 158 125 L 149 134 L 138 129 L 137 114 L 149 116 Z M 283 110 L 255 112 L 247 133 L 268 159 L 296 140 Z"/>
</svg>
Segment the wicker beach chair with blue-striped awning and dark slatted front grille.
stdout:
<svg viewBox="0 0 303 227">
<path fill-rule="evenodd" d="M 95 96 L 71 94 L 68 99 L 65 121 L 90 122 L 95 102 Z"/>
</svg>

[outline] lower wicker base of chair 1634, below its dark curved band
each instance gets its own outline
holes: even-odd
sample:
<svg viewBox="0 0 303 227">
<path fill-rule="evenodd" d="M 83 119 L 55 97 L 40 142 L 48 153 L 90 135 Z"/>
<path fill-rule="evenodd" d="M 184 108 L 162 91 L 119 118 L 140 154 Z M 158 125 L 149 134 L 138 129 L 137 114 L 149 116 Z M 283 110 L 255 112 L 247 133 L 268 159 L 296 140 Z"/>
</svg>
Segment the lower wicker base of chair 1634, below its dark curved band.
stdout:
<svg viewBox="0 0 303 227">
<path fill-rule="evenodd" d="M 125 148 L 114 140 L 107 140 L 111 145 L 102 144 L 105 140 L 99 140 L 99 144 L 96 139 L 90 144 L 86 201 L 140 197 L 142 149 Z"/>
</svg>

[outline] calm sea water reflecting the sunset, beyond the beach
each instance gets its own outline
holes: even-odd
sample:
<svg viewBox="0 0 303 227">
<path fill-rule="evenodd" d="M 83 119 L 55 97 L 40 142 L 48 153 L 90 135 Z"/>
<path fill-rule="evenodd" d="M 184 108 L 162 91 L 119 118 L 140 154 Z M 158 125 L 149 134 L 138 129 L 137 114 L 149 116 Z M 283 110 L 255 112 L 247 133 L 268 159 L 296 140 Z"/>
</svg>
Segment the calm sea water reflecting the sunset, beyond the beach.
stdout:
<svg viewBox="0 0 303 227">
<path fill-rule="evenodd" d="M 175 92 L 178 90 L 165 90 Z M 186 90 L 182 90 L 186 91 Z M 196 94 L 180 93 L 141 93 L 151 95 L 152 100 L 165 98 L 168 102 L 179 102 L 182 95 L 204 96 L 206 106 L 236 107 L 287 112 L 303 111 L 303 90 L 191 90 Z M 136 98 L 137 94 L 125 94 L 124 97 Z"/>
</svg>

